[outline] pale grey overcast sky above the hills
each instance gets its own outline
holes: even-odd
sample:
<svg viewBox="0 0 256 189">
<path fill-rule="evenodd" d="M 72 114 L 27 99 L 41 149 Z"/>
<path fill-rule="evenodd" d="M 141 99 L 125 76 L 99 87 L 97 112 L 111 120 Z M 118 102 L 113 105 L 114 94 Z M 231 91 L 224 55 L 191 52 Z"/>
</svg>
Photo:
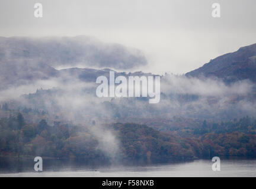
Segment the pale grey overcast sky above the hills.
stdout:
<svg viewBox="0 0 256 189">
<path fill-rule="evenodd" d="M 34 4 L 43 18 L 34 17 Z M 219 3 L 221 17 L 212 17 Z M 89 35 L 139 48 L 136 70 L 183 74 L 256 43 L 255 0 L 1 0 L 0 35 Z"/>
</svg>

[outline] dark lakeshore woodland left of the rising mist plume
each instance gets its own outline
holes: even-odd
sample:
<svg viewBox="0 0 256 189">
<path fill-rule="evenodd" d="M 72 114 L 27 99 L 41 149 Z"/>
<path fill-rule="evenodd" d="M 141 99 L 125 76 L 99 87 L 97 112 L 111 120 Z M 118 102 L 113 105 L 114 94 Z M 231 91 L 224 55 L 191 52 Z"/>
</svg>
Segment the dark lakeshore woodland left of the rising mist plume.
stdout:
<svg viewBox="0 0 256 189">
<path fill-rule="evenodd" d="M 98 141 L 85 127 L 59 122 L 49 126 L 44 119 L 28 124 L 21 113 L 17 117 L 0 119 L 1 155 L 104 158 L 97 145 Z"/>
</svg>

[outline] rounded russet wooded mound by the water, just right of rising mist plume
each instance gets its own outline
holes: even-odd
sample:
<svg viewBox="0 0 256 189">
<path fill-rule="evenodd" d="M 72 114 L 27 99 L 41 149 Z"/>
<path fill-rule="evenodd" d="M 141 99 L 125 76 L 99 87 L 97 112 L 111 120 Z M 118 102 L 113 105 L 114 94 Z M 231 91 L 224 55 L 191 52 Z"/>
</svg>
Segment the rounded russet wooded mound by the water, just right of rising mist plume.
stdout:
<svg viewBox="0 0 256 189">
<path fill-rule="evenodd" d="M 129 161 L 169 162 L 196 158 L 191 146 L 179 136 L 162 133 L 146 125 L 110 125 L 121 142 L 122 157 Z"/>
</svg>

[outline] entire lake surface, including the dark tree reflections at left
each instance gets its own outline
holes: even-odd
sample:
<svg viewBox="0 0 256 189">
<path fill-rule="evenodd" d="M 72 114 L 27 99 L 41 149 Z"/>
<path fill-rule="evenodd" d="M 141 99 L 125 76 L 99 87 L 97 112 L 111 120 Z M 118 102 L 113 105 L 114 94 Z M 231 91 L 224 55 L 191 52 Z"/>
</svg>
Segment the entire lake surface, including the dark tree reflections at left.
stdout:
<svg viewBox="0 0 256 189">
<path fill-rule="evenodd" d="M 0 177 L 256 177 L 256 160 L 222 160 L 221 171 L 212 171 L 210 160 L 165 165 L 96 166 L 95 162 L 46 159 L 43 172 L 33 170 L 33 159 L 30 162 L 0 160 Z"/>
</svg>

